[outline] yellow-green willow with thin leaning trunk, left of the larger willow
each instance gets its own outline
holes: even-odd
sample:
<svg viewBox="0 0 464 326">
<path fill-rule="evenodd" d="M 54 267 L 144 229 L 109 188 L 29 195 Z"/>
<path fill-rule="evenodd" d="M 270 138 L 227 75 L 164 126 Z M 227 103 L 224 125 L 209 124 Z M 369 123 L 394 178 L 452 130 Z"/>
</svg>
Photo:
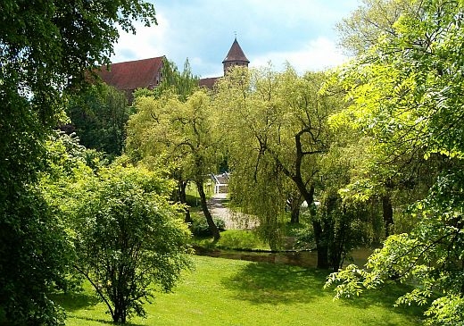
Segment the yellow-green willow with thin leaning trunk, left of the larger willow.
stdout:
<svg viewBox="0 0 464 326">
<path fill-rule="evenodd" d="M 197 91 L 182 103 L 178 96 L 165 92 L 159 99 L 139 97 L 136 106 L 137 114 L 128 123 L 129 155 L 135 152 L 154 165 L 170 163 L 174 171 L 181 171 L 182 180 L 194 180 L 206 222 L 219 239 L 203 188 L 204 176 L 215 166 L 209 97 Z"/>
</svg>

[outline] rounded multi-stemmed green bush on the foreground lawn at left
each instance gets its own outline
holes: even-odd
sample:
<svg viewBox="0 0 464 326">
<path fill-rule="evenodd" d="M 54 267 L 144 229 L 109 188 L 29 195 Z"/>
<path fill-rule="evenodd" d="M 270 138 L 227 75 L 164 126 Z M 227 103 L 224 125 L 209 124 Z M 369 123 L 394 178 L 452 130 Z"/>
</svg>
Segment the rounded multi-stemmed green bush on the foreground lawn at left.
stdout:
<svg viewBox="0 0 464 326">
<path fill-rule="evenodd" d="M 113 322 L 145 315 L 153 287 L 169 291 L 191 266 L 190 232 L 158 173 L 112 166 L 79 180 L 64 210 L 75 231 L 75 268 L 91 282 Z"/>
</svg>

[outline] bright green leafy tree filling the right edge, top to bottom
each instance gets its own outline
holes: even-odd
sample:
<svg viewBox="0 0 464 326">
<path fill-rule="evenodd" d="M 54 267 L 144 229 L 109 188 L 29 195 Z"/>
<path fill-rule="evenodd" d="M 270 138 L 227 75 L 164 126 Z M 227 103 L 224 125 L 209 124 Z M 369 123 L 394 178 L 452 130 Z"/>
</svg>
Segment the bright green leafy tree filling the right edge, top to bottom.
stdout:
<svg viewBox="0 0 464 326">
<path fill-rule="evenodd" d="M 397 304 L 427 305 L 427 324 L 454 325 L 462 323 L 464 296 L 464 7 L 428 0 L 419 9 L 419 15 L 403 13 L 395 22 L 396 38 L 378 42 L 344 71 L 353 100 L 344 116 L 354 118 L 381 154 L 372 164 L 389 157 L 393 163 L 384 171 L 402 174 L 404 160 L 397 158 L 419 155 L 422 162 L 435 162 L 429 177 L 434 185 L 427 196 L 411 201 L 408 213 L 416 223 L 410 232 L 387 238 L 366 269 L 351 265 L 332 274 L 327 285 L 338 284 L 336 297 L 349 297 L 391 279 L 412 280 L 413 289 Z"/>
</svg>

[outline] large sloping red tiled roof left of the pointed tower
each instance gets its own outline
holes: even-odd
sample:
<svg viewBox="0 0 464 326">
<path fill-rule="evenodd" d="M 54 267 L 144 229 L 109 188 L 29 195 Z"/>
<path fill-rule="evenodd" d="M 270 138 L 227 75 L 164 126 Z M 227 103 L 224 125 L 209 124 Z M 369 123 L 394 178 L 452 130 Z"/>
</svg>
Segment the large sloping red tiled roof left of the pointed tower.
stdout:
<svg viewBox="0 0 464 326">
<path fill-rule="evenodd" d="M 134 90 L 137 88 L 155 88 L 160 80 L 164 56 L 157 58 L 128 61 L 126 63 L 112 63 L 110 71 L 102 67 L 96 73 L 108 85 L 120 90 Z"/>
</svg>

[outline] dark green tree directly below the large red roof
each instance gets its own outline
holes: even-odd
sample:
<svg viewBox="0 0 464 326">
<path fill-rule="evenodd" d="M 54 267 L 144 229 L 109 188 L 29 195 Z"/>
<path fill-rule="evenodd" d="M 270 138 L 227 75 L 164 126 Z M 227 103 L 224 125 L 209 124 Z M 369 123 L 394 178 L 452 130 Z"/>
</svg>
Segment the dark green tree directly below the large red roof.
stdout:
<svg viewBox="0 0 464 326">
<path fill-rule="evenodd" d="M 76 132 L 82 146 L 112 157 L 122 154 L 129 114 L 123 92 L 97 83 L 71 96 L 66 112 L 71 125 L 64 127 Z"/>
</svg>

